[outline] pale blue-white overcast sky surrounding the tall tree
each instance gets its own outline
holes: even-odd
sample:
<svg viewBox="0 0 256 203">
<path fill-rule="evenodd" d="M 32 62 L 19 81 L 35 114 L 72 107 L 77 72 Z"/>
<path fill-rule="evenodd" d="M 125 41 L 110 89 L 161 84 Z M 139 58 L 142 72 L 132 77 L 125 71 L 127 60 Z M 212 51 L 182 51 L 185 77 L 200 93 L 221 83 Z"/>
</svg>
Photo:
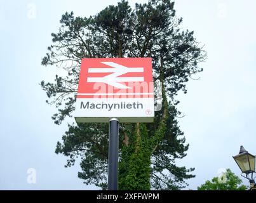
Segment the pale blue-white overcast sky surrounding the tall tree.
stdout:
<svg viewBox="0 0 256 203">
<path fill-rule="evenodd" d="M 46 94 L 38 84 L 57 73 L 55 67 L 41 66 L 41 58 L 61 15 L 95 15 L 117 2 L 0 0 L 0 189 L 97 189 L 77 178 L 79 161 L 65 168 L 66 157 L 55 154 L 67 125 L 53 124 L 56 109 L 44 102 Z M 146 1 L 129 2 L 133 6 Z M 200 79 L 189 81 L 188 93 L 179 95 L 179 110 L 185 114 L 179 124 L 190 148 L 178 164 L 196 167 L 187 189 L 195 190 L 225 168 L 239 176 L 232 155 L 240 145 L 256 154 L 255 9 L 253 0 L 175 3 L 177 16 L 184 19 L 180 28 L 194 30 L 208 52 L 200 64 Z M 36 170 L 35 184 L 27 182 L 28 169 Z"/>
</svg>

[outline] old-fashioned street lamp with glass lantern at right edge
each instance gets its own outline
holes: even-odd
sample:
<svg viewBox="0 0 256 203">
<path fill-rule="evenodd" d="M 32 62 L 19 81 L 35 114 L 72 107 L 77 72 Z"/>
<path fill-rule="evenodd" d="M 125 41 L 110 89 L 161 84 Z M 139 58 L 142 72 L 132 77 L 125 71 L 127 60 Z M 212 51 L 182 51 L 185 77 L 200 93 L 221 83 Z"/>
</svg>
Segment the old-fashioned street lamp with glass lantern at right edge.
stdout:
<svg viewBox="0 0 256 203">
<path fill-rule="evenodd" d="M 255 155 L 248 153 L 245 148 L 241 146 L 239 154 L 233 158 L 242 171 L 241 176 L 250 181 L 251 190 L 256 190 L 255 178 L 253 178 L 253 173 L 255 173 Z M 243 174 L 245 174 L 245 176 Z"/>
</svg>

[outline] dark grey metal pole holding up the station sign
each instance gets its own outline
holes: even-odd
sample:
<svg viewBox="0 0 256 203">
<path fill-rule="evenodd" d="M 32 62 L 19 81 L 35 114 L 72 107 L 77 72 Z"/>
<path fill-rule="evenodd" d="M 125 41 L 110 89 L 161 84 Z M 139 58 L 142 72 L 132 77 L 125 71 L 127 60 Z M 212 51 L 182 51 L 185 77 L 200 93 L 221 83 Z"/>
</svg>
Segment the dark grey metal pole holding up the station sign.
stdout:
<svg viewBox="0 0 256 203">
<path fill-rule="evenodd" d="M 109 177 L 108 190 L 118 190 L 118 119 L 109 120 Z"/>
</svg>

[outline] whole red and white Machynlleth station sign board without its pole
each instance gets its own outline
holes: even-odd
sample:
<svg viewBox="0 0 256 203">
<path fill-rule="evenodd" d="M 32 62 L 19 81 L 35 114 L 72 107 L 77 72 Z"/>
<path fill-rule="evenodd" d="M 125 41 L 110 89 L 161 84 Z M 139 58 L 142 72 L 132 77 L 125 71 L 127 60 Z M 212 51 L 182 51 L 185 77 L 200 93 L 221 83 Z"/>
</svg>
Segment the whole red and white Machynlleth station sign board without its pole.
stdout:
<svg viewBox="0 0 256 203">
<path fill-rule="evenodd" d="M 151 58 L 83 58 L 76 98 L 76 122 L 152 122 Z"/>
</svg>

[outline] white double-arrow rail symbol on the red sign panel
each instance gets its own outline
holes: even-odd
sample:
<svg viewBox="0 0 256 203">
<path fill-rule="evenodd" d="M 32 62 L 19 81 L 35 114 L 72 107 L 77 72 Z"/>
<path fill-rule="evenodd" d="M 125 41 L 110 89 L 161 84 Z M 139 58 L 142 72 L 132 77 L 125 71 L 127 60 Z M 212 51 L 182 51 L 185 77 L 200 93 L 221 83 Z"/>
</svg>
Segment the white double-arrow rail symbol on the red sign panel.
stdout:
<svg viewBox="0 0 256 203">
<path fill-rule="evenodd" d="M 144 72 L 144 68 L 128 68 L 114 62 L 101 62 L 113 68 L 89 68 L 88 72 L 112 72 L 104 77 L 88 77 L 87 82 L 104 82 L 119 89 L 130 89 L 130 87 L 118 82 L 142 82 L 144 77 L 118 77 L 128 72 Z"/>
</svg>

